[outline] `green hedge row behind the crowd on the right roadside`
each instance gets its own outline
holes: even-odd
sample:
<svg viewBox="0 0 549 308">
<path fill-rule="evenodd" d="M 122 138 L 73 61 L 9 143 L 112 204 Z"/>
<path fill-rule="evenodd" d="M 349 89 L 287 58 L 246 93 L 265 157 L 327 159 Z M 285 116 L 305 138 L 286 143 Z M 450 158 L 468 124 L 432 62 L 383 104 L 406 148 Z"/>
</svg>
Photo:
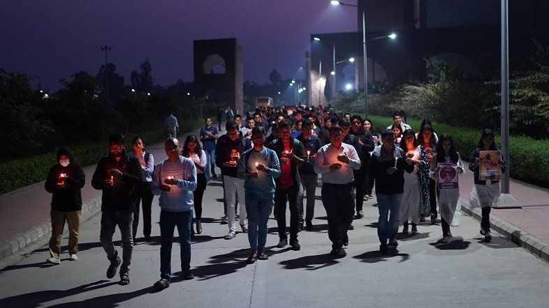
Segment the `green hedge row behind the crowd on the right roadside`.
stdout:
<svg viewBox="0 0 549 308">
<path fill-rule="evenodd" d="M 374 122 L 374 128 L 381 130 L 393 123 L 388 116 L 370 116 Z M 419 129 L 421 121 L 409 120 L 414 131 Z M 450 134 L 454 139 L 457 151 L 460 152 L 462 160 L 469 161 L 471 153 L 481 139 L 481 130 L 471 128 L 457 128 L 455 126 L 433 123 L 434 130 L 438 135 Z M 499 130 L 499 128 L 491 128 Z M 501 138 L 496 135 L 496 144 L 502 148 Z M 549 141 L 536 140 L 530 137 L 511 136 L 509 137 L 509 152 L 511 159 L 506 158 L 509 163 L 511 178 L 532 183 L 541 187 L 549 186 Z"/>
</svg>

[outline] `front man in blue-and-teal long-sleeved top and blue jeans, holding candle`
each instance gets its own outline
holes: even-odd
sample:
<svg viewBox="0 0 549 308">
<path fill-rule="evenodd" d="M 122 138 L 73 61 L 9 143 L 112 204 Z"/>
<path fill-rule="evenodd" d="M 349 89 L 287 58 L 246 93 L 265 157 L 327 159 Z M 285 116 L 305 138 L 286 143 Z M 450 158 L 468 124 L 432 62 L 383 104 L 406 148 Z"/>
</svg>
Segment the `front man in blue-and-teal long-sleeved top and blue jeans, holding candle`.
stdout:
<svg viewBox="0 0 549 308">
<path fill-rule="evenodd" d="M 254 147 L 240 155 L 237 167 L 237 175 L 244 180 L 246 194 L 248 240 L 251 249 L 251 254 L 246 260 L 248 264 L 269 259 L 264 249 L 276 187 L 274 178 L 280 176 L 277 153 L 263 146 L 265 128 L 258 126 L 251 130 L 251 140 Z"/>
</svg>

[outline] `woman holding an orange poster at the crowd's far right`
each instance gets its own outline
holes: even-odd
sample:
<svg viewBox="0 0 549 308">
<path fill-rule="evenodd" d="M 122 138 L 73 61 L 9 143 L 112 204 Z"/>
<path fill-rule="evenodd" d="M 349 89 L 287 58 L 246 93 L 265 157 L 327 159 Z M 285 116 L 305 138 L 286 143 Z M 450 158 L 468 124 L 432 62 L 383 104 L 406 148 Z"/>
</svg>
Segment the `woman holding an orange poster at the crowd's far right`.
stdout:
<svg viewBox="0 0 549 308">
<path fill-rule="evenodd" d="M 492 130 L 483 130 L 469 162 L 469 170 L 474 172 L 475 190 L 482 208 L 481 234 L 485 242 L 490 242 L 492 240 L 490 210 L 492 204 L 499 201 L 499 176 L 497 175 L 499 172 L 504 173 L 507 169 L 504 157 L 496 147 Z"/>
</svg>

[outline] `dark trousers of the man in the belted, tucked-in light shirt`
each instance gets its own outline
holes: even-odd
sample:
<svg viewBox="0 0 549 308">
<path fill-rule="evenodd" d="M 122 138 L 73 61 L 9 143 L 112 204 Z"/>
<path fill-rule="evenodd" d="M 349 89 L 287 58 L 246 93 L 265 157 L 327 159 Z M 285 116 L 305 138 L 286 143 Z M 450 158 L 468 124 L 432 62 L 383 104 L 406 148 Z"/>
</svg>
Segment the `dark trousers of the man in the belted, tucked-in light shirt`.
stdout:
<svg viewBox="0 0 549 308">
<path fill-rule="evenodd" d="M 323 183 L 321 196 L 322 203 L 328 215 L 328 238 L 332 241 L 332 248 L 341 249 L 343 242 L 348 239 L 347 230 L 353 221 L 354 199 L 353 185 L 330 185 Z"/>
</svg>

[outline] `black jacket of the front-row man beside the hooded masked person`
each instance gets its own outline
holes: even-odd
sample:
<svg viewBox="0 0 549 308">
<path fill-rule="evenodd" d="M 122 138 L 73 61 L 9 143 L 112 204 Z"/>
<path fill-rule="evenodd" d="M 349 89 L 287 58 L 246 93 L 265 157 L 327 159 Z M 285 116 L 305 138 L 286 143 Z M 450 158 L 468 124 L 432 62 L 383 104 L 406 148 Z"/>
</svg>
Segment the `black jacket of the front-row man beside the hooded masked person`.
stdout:
<svg viewBox="0 0 549 308">
<path fill-rule="evenodd" d="M 104 180 L 109 180 L 108 170 L 118 169 L 122 177 L 113 178 L 115 185 L 105 187 Z M 112 155 L 102 157 L 92 178 L 92 187 L 103 190 L 101 210 L 135 210 L 136 189 L 141 183 L 141 164 L 133 154 L 122 153 L 119 161 Z"/>
</svg>

